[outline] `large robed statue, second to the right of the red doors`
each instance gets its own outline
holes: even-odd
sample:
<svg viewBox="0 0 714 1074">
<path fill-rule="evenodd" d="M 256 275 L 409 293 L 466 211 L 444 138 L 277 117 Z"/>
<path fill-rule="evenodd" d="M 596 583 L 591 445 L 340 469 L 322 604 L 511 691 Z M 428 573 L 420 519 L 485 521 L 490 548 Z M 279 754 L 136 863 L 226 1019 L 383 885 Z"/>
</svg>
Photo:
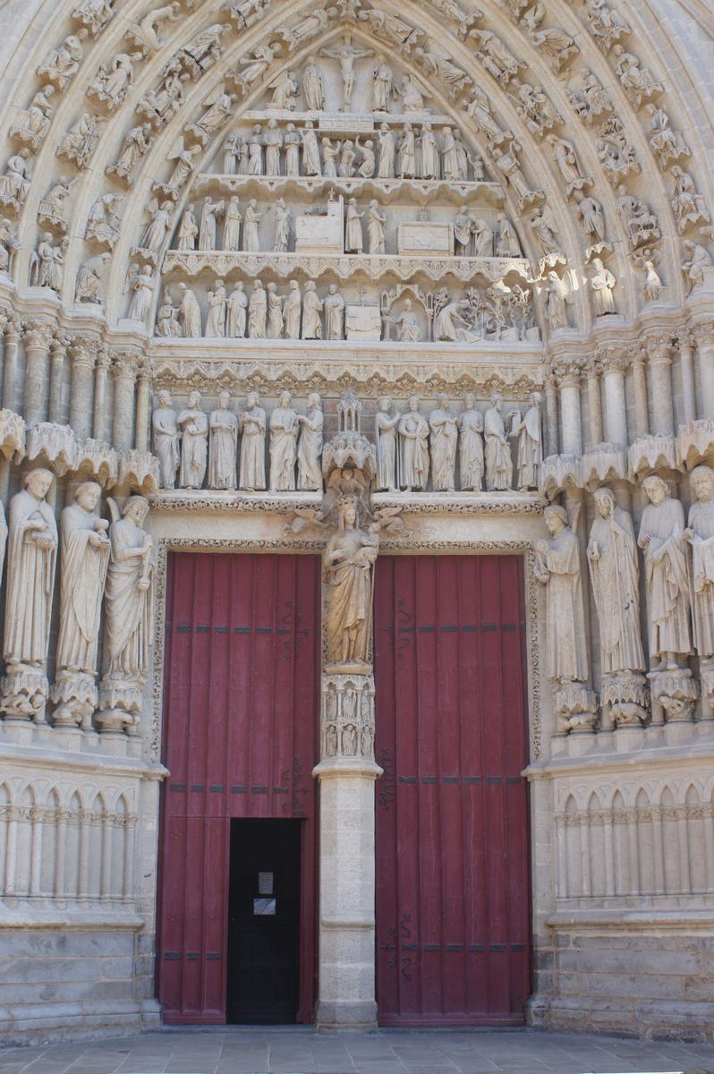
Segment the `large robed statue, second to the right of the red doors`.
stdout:
<svg viewBox="0 0 714 1074">
<path fill-rule="evenodd" d="M 593 493 L 597 514 L 587 545 L 593 595 L 600 626 L 603 674 L 644 671 L 640 638 L 640 569 L 632 519 L 610 489 Z"/>
</svg>

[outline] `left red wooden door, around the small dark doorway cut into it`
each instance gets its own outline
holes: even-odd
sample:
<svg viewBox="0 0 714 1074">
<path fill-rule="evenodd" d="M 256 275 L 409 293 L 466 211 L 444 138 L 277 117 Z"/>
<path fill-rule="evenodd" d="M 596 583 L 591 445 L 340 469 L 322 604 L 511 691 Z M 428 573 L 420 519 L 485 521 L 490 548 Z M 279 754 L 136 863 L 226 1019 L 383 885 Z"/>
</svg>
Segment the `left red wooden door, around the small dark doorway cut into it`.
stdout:
<svg viewBox="0 0 714 1074">
<path fill-rule="evenodd" d="M 158 915 L 170 1022 L 224 1022 L 231 817 L 303 817 L 298 1020 L 316 996 L 320 560 L 172 554 Z"/>
</svg>

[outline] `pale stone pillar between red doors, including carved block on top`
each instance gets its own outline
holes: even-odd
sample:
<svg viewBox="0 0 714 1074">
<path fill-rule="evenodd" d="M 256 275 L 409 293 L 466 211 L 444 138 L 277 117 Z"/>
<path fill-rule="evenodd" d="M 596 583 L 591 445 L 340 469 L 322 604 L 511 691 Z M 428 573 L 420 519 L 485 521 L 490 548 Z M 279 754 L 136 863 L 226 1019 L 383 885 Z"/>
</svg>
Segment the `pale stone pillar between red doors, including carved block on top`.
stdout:
<svg viewBox="0 0 714 1074">
<path fill-rule="evenodd" d="M 317 1028 L 375 1028 L 375 682 L 322 673 Z"/>
</svg>

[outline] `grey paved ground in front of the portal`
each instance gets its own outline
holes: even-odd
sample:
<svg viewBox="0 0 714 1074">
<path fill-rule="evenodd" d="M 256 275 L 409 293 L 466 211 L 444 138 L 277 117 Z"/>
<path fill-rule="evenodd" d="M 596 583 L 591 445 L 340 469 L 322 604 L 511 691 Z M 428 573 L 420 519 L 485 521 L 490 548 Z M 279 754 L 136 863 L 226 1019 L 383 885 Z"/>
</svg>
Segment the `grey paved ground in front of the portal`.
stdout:
<svg viewBox="0 0 714 1074">
<path fill-rule="evenodd" d="M 0 1074 L 712 1074 L 714 1047 L 529 1030 L 316 1036 L 311 1029 L 145 1033 L 0 1048 Z"/>
</svg>

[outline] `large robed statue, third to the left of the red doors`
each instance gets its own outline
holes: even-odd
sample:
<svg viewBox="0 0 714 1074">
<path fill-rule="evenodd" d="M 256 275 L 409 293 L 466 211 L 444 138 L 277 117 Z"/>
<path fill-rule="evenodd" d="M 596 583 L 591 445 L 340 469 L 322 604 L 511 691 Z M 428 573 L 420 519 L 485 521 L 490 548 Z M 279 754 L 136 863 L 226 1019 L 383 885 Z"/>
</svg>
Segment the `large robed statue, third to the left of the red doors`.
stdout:
<svg viewBox="0 0 714 1074">
<path fill-rule="evenodd" d="M 57 523 L 46 499 L 52 483 L 49 470 L 30 470 L 10 500 L 3 643 L 9 674 L 41 668 L 47 658 L 57 564 Z"/>
</svg>

